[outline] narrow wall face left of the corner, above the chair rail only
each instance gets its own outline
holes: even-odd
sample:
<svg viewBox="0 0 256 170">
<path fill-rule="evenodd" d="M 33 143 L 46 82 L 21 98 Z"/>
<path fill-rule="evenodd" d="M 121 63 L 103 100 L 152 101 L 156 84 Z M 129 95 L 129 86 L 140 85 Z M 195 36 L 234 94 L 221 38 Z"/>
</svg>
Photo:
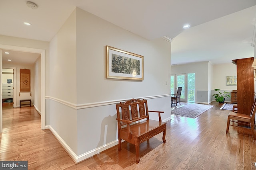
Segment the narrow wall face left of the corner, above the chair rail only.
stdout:
<svg viewBox="0 0 256 170">
<path fill-rule="evenodd" d="M 50 97 L 76 104 L 76 13 L 50 42 Z"/>
</svg>

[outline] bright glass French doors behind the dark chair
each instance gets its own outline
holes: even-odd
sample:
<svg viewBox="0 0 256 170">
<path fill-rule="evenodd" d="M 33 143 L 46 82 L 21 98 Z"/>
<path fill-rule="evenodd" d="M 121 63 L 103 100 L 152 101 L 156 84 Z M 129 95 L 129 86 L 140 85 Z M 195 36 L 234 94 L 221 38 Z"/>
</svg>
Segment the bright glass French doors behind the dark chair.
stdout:
<svg viewBox="0 0 256 170">
<path fill-rule="evenodd" d="M 172 74 L 170 77 L 171 94 L 175 94 L 178 87 L 182 87 L 180 101 L 195 102 L 195 75 L 195 73 Z"/>
</svg>

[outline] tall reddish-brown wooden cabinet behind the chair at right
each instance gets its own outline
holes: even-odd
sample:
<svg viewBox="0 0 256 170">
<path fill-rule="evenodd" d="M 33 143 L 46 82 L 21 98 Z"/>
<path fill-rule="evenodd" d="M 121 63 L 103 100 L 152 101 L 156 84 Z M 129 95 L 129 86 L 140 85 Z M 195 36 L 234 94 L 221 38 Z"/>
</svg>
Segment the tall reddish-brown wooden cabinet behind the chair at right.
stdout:
<svg viewBox="0 0 256 170">
<path fill-rule="evenodd" d="M 250 115 L 254 102 L 254 58 L 232 60 L 236 64 L 238 112 Z"/>
</svg>

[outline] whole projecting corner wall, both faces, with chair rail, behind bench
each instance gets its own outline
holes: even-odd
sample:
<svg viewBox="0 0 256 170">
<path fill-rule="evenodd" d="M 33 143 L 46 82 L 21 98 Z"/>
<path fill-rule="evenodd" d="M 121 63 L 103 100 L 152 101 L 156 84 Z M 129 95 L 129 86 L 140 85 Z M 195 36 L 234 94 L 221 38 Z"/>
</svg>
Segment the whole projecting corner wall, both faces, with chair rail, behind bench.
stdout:
<svg viewBox="0 0 256 170">
<path fill-rule="evenodd" d="M 106 45 L 144 56 L 144 80 L 107 79 Z M 122 100 L 146 98 L 170 119 L 170 43 L 162 38 L 148 41 L 76 8 L 50 42 L 50 72 L 49 125 L 79 160 L 117 144 Z"/>
</svg>

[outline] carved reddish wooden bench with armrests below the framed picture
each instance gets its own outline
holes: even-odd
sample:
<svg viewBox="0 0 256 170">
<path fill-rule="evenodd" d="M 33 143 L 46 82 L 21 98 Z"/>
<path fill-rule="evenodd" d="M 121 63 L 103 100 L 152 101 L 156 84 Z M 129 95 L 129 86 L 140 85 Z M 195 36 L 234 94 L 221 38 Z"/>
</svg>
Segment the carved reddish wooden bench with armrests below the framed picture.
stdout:
<svg viewBox="0 0 256 170">
<path fill-rule="evenodd" d="M 132 99 L 116 104 L 118 121 L 118 150 L 122 139 L 133 145 L 136 150 L 136 162 L 140 162 L 140 144 L 163 132 L 162 140 L 166 143 L 166 122 L 162 122 L 163 111 L 148 110 L 147 100 Z M 150 120 L 148 112 L 158 113 L 159 121 Z"/>
</svg>

